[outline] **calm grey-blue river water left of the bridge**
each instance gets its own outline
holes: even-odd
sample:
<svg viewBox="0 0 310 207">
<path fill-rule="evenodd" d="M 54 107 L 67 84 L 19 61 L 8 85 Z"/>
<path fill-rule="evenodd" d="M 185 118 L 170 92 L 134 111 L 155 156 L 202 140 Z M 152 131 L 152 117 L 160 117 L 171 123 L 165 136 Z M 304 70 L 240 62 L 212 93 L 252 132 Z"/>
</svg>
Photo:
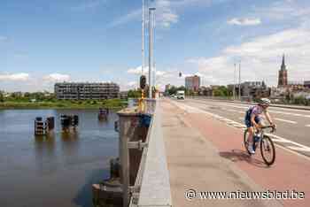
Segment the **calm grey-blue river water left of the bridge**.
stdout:
<svg viewBox="0 0 310 207">
<path fill-rule="evenodd" d="M 92 206 L 91 184 L 109 177 L 118 155 L 117 114 L 94 110 L 0 110 L 0 206 Z M 61 132 L 60 114 L 79 115 L 73 134 Z M 35 137 L 35 117 L 54 116 L 54 134 Z"/>
</svg>

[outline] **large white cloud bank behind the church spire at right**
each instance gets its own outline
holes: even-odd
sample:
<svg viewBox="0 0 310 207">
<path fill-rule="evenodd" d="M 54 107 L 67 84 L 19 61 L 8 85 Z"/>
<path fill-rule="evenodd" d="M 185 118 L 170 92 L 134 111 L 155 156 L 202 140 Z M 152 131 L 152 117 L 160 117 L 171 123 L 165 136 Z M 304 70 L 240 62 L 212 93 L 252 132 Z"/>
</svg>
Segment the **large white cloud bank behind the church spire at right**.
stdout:
<svg viewBox="0 0 310 207">
<path fill-rule="evenodd" d="M 260 36 L 223 49 L 218 57 L 191 58 L 187 62 L 198 65 L 198 72 L 208 77 L 205 84 L 214 80 L 217 84 L 232 83 L 234 63 L 241 60 L 242 81 L 266 80 L 276 85 L 283 53 L 289 80 L 310 80 L 310 29 L 306 27 Z"/>
</svg>

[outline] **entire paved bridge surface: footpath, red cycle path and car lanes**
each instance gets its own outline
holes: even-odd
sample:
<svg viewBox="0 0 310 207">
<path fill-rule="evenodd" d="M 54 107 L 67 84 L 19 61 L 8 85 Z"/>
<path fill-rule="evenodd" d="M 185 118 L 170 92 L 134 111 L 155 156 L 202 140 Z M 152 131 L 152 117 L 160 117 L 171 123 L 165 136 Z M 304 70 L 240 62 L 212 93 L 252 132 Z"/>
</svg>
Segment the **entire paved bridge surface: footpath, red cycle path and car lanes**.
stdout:
<svg viewBox="0 0 310 207">
<path fill-rule="evenodd" d="M 276 200 L 283 206 L 309 206 L 310 144 L 307 134 L 310 128 L 307 125 L 310 111 L 270 108 L 278 130 L 276 134 L 270 134 L 276 143 L 275 164 L 267 166 L 262 161 L 260 152 L 250 157 L 244 149 L 243 122 L 244 111 L 248 105 L 206 100 L 164 99 L 162 106 L 167 116 L 169 113 L 175 114 L 174 119 L 164 123 L 165 127 L 174 126 L 173 120 L 175 122 L 175 119 L 180 119 L 178 128 L 174 126 L 174 129 L 167 130 L 166 134 L 164 130 L 173 203 L 183 203 L 179 206 L 235 206 L 235 204 L 237 206 L 239 203 L 233 205 L 214 201 L 214 203 L 189 203 L 182 198 L 182 191 L 188 187 L 199 190 L 201 188 L 238 190 L 240 186 L 243 190 L 244 183 L 249 184 L 244 180 L 248 177 L 250 183 L 256 183 L 264 191 L 297 191 L 305 196 L 303 199 Z M 198 142 L 194 134 L 200 134 L 199 136 L 206 142 Z M 174 142 L 169 143 L 171 139 L 174 139 Z M 208 148 L 206 143 L 210 143 L 214 149 L 210 146 Z M 215 153 L 208 155 L 210 151 Z M 221 159 L 231 161 L 232 166 L 241 172 L 230 172 L 231 168 Z M 210 160 L 219 162 L 212 164 Z M 209 166 L 211 164 L 212 167 Z M 216 170 L 218 172 L 214 173 Z M 234 188 L 229 184 L 234 183 L 236 179 L 239 181 Z M 253 188 L 247 191 L 253 191 Z M 242 204 L 264 206 L 264 203 Z"/>
</svg>

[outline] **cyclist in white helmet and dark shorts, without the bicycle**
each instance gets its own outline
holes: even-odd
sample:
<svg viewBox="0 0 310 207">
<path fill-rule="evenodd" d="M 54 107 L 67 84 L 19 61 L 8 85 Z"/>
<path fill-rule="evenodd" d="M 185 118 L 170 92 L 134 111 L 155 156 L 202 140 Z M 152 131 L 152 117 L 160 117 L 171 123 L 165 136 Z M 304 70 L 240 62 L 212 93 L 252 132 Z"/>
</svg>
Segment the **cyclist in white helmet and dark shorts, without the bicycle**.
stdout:
<svg viewBox="0 0 310 207">
<path fill-rule="evenodd" d="M 245 126 L 248 129 L 248 150 L 251 154 L 254 154 L 253 149 L 253 135 L 254 130 L 259 130 L 262 127 L 260 114 L 264 113 L 267 121 L 270 123 L 270 126 L 276 127 L 273 123 L 269 112 L 267 111 L 268 106 L 270 105 L 270 100 L 267 98 L 261 98 L 259 104 L 251 106 L 245 113 Z"/>
</svg>

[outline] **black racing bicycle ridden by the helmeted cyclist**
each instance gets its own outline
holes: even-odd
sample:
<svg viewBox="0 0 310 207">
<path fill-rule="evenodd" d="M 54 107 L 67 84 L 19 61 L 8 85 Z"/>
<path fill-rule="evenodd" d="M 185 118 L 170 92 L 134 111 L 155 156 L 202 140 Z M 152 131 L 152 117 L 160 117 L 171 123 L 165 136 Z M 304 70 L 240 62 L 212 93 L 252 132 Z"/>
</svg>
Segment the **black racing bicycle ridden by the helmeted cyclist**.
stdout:
<svg viewBox="0 0 310 207">
<path fill-rule="evenodd" d="M 261 157 L 263 158 L 264 162 L 267 165 L 273 165 L 275 163 L 275 144 L 270 139 L 270 137 L 264 133 L 264 129 L 266 129 L 266 128 L 272 128 L 270 133 L 275 132 L 274 126 L 263 126 L 263 127 L 261 127 L 260 128 L 261 130 L 255 132 L 253 135 L 253 149 L 255 151 L 257 149 L 257 147 L 259 146 L 259 143 L 260 143 L 260 155 L 261 155 Z M 247 138 L 248 138 L 248 130 L 245 129 L 245 131 L 244 131 L 244 147 L 245 147 L 246 151 L 250 155 L 252 155 L 248 149 L 249 142 L 247 141 Z M 267 157 L 267 153 L 271 154 L 270 158 Z"/>
</svg>

